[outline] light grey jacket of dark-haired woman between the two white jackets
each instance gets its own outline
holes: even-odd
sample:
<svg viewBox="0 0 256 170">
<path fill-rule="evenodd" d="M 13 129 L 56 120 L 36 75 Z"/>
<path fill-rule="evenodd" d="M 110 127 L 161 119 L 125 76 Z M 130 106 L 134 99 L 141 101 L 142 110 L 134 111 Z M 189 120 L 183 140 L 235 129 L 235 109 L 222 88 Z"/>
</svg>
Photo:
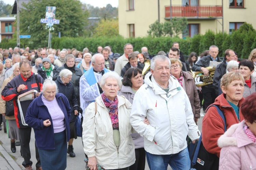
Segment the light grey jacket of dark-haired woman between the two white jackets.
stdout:
<svg viewBox="0 0 256 170">
<path fill-rule="evenodd" d="M 122 86 L 117 95 L 124 96 L 132 104 L 135 93 L 132 91 L 130 86 Z M 144 148 L 144 139 L 140 134 L 132 133 L 131 137 L 134 142 L 135 149 Z"/>
</svg>

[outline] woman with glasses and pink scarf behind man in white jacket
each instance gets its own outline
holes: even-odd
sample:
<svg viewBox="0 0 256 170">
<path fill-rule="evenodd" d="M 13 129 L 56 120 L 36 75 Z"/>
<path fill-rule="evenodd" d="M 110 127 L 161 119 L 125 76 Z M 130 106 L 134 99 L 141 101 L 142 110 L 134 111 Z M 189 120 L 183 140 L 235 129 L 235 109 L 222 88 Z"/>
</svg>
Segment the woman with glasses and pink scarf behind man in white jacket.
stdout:
<svg viewBox="0 0 256 170">
<path fill-rule="evenodd" d="M 171 75 L 173 75 L 179 81 L 180 85 L 186 91 L 194 114 L 194 120 L 197 123 L 197 120 L 200 118 L 201 106 L 195 81 L 188 72 L 182 71 L 182 63 L 180 60 L 176 58 L 171 58 L 170 60 Z"/>
</svg>

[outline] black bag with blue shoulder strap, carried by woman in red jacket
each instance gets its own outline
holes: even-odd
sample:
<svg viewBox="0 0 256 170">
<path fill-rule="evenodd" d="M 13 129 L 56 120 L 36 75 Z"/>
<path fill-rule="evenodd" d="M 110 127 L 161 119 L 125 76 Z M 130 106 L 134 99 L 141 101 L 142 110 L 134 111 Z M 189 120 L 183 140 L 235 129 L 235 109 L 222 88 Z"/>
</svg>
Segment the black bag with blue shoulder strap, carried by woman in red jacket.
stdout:
<svg viewBox="0 0 256 170">
<path fill-rule="evenodd" d="M 227 130 L 226 118 L 223 111 L 217 105 L 211 105 L 217 108 L 218 114 L 222 117 L 224 121 L 224 132 Z M 193 155 L 191 157 L 191 168 L 196 170 L 218 170 L 219 169 L 219 158 L 217 155 L 209 153 L 203 146 L 202 134 L 199 138 L 197 146 L 194 149 Z"/>
</svg>

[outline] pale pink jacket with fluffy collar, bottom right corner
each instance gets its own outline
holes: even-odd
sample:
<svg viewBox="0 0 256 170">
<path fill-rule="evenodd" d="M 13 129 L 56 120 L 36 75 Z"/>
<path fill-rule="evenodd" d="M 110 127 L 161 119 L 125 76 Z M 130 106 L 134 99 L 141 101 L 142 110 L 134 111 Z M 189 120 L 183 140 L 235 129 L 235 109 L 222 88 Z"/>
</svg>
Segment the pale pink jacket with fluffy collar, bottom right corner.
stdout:
<svg viewBox="0 0 256 170">
<path fill-rule="evenodd" d="M 247 137 L 244 132 L 243 120 L 234 124 L 218 139 L 221 149 L 219 170 L 256 170 L 256 142 Z"/>
</svg>

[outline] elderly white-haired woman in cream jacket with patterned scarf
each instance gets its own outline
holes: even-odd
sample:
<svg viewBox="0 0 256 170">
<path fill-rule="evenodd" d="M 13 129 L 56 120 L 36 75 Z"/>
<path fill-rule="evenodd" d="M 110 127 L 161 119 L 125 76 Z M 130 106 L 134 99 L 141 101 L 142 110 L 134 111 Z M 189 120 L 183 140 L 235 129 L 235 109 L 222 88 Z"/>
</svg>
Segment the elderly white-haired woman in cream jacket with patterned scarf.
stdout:
<svg viewBox="0 0 256 170">
<path fill-rule="evenodd" d="M 104 92 L 85 110 L 82 136 L 90 170 L 96 170 L 96 164 L 105 169 L 128 170 L 135 162 L 131 103 L 117 95 L 121 86 L 116 72 L 105 73 L 100 80 Z"/>
</svg>

